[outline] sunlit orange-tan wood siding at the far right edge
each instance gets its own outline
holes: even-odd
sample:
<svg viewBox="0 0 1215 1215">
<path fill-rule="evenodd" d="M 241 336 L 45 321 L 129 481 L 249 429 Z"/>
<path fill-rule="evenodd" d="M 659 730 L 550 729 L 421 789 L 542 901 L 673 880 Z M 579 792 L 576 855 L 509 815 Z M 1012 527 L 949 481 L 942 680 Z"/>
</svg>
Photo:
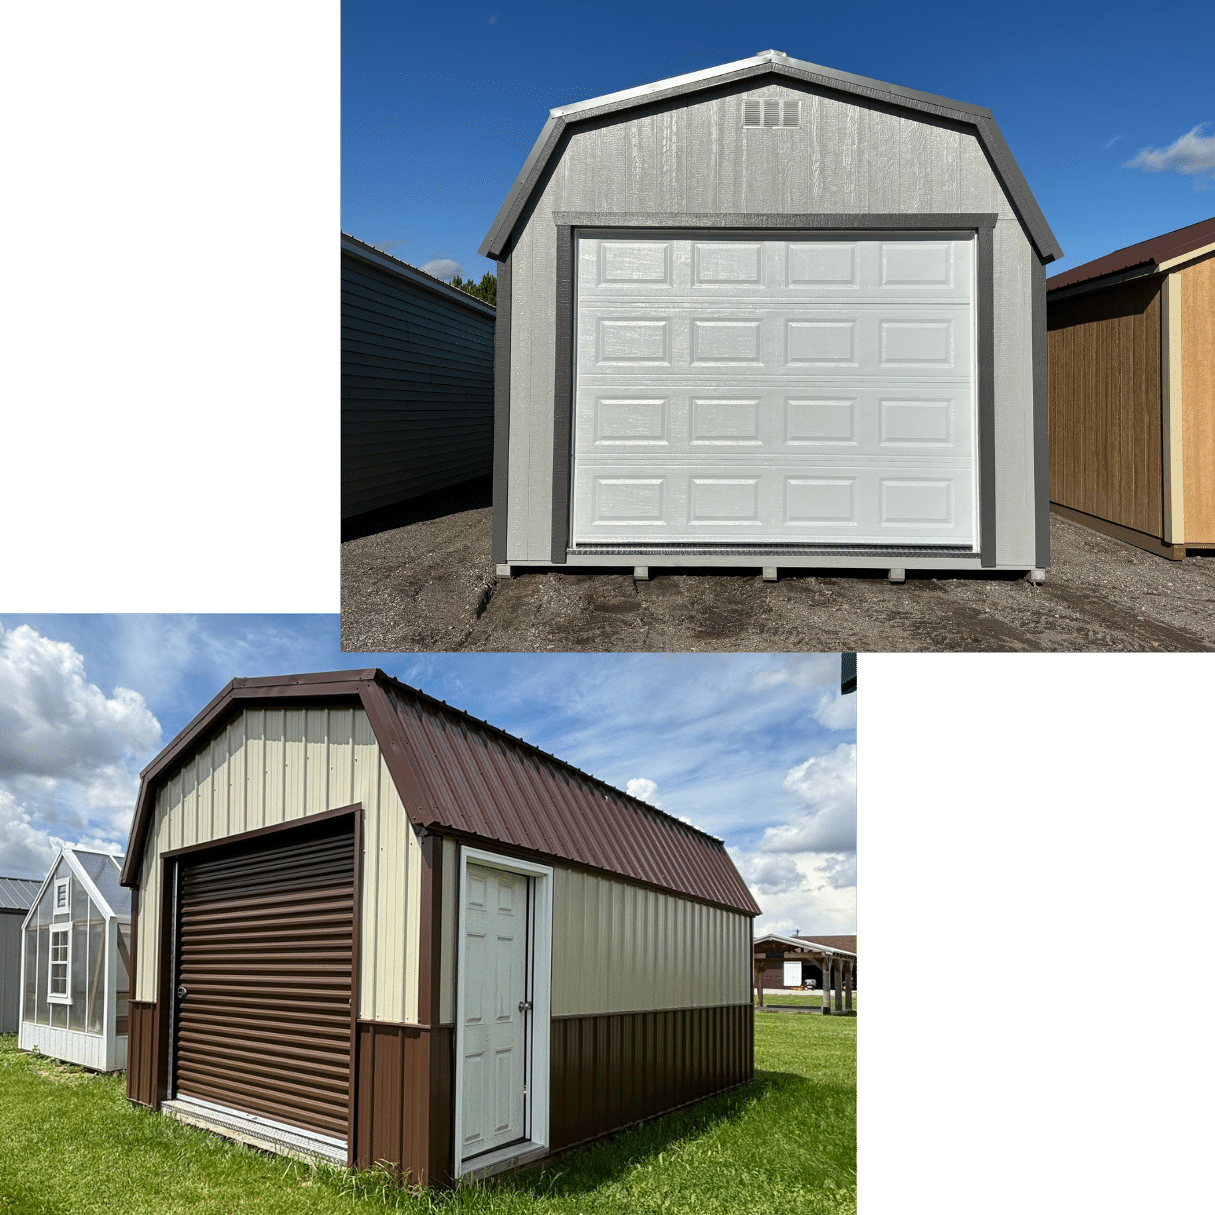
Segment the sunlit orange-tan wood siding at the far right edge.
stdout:
<svg viewBox="0 0 1215 1215">
<path fill-rule="evenodd" d="M 1215 544 L 1215 256 L 1175 273 L 1181 289 L 1185 538 Z"/>
</svg>

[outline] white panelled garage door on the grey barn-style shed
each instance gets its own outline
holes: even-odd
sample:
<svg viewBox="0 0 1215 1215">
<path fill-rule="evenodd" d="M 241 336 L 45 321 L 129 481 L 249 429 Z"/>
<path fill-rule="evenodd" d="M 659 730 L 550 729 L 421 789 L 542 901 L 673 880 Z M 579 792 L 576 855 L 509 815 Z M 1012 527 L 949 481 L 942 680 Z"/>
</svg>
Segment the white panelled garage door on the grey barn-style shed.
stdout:
<svg viewBox="0 0 1215 1215">
<path fill-rule="evenodd" d="M 973 241 L 578 241 L 578 544 L 977 548 Z"/>
</svg>

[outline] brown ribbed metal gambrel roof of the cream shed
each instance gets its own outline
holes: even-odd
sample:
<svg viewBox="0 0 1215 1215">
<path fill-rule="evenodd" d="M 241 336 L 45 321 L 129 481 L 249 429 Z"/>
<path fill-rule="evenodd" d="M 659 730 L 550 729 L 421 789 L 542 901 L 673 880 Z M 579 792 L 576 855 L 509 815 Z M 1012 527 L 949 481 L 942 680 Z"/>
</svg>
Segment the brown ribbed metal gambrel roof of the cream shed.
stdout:
<svg viewBox="0 0 1215 1215">
<path fill-rule="evenodd" d="M 123 883 L 139 875 L 164 784 L 233 713 L 258 702 L 357 700 L 409 820 L 758 915 L 720 840 L 383 671 L 233 679 L 143 769 Z"/>
</svg>

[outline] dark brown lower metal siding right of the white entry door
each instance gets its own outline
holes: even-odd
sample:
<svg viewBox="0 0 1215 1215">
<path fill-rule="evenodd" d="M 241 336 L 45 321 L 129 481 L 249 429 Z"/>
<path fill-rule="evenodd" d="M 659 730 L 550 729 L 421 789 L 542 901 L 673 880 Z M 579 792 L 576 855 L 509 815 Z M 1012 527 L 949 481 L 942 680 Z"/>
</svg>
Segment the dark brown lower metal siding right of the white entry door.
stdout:
<svg viewBox="0 0 1215 1215">
<path fill-rule="evenodd" d="M 581 1143 L 750 1080 L 752 1017 L 750 1004 L 555 1017 L 550 1146 Z"/>
</svg>

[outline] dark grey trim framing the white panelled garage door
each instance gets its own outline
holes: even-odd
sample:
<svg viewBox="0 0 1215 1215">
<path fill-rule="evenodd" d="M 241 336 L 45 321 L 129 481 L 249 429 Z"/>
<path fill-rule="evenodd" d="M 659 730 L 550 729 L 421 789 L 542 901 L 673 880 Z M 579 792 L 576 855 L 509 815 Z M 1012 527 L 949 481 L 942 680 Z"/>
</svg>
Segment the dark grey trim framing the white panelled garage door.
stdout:
<svg viewBox="0 0 1215 1215">
<path fill-rule="evenodd" d="M 965 233 L 974 239 L 974 382 L 978 479 L 977 543 L 979 567 L 996 564 L 995 549 L 995 326 L 994 232 L 999 216 L 985 214 L 882 215 L 615 215 L 610 213 L 554 211 L 556 224 L 556 333 L 553 375 L 553 527 L 549 560 L 565 565 L 570 547 L 573 495 L 575 318 L 577 310 L 577 241 L 580 236 L 612 239 L 639 237 L 695 239 L 707 232 L 747 230 L 784 237 L 830 236 L 840 231 L 898 231 Z M 886 552 L 886 550 L 883 550 Z M 888 553 L 894 555 L 898 548 Z M 881 553 L 875 561 L 882 564 Z"/>
</svg>

